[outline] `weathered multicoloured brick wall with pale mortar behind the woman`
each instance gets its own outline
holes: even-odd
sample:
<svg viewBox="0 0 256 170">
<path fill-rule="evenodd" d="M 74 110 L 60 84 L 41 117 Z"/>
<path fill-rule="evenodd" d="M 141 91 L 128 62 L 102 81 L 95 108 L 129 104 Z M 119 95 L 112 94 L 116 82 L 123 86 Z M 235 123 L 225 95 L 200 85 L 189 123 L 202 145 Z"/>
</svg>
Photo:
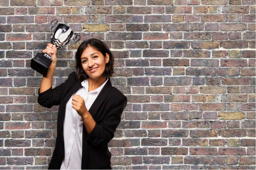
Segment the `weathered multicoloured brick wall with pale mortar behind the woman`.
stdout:
<svg viewBox="0 0 256 170">
<path fill-rule="evenodd" d="M 47 169 L 58 106 L 30 60 L 58 19 L 115 57 L 113 169 L 255 169 L 255 0 L 1 0 L 0 169 Z M 81 42 L 82 42 L 81 41 Z M 81 43 L 80 42 L 80 43 Z M 57 52 L 54 84 L 79 43 Z"/>
</svg>

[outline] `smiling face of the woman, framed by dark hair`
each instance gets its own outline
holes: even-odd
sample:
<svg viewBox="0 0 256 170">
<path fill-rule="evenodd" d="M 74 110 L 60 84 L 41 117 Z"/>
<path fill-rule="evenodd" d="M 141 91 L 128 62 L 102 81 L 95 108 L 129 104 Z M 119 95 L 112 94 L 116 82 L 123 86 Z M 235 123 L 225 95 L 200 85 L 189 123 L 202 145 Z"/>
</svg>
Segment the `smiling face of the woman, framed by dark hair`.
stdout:
<svg viewBox="0 0 256 170">
<path fill-rule="evenodd" d="M 91 46 L 88 46 L 81 55 L 82 67 L 85 73 L 93 79 L 102 76 L 108 61 L 108 53 L 106 53 L 106 57 L 104 57 L 101 52 Z M 96 69 L 93 70 L 94 68 Z"/>
</svg>

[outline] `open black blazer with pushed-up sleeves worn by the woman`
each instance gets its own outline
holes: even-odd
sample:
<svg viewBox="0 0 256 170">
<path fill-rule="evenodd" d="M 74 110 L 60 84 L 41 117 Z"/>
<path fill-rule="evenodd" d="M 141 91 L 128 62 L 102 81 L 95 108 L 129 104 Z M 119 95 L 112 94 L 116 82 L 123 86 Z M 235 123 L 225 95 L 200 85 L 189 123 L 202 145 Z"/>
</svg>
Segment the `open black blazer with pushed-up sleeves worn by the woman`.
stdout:
<svg viewBox="0 0 256 170">
<path fill-rule="evenodd" d="M 59 105 L 56 145 L 48 169 L 60 169 L 64 159 L 63 122 L 66 103 L 72 94 L 82 87 L 81 83 L 75 82 L 74 73 L 69 74 L 68 79 L 54 89 L 51 87 L 43 93 L 40 93 L 38 89 L 38 103 L 40 105 L 46 108 Z M 89 109 L 96 122 L 89 135 L 83 125 L 81 169 L 101 169 L 111 164 L 108 142 L 114 137 L 114 132 L 121 121 L 121 114 L 126 104 L 127 97 L 113 87 L 110 78 L 108 78 Z"/>
</svg>

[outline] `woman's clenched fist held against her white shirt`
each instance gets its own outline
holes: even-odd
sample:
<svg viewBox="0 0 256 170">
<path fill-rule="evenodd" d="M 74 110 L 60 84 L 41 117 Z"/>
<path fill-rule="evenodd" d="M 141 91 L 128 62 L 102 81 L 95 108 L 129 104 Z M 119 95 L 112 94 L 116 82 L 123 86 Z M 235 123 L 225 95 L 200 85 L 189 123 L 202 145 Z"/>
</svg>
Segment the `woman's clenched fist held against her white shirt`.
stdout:
<svg viewBox="0 0 256 170">
<path fill-rule="evenodd" d="M 85 101 L 80 95 L 75 94 L 74 97 L 72 98 L 71 103 L 72 103 L 72 108 L 74 108 L 81 117 L 85 116 L 86 113 L 88 112 L 85 106 Z"/>
</svg>

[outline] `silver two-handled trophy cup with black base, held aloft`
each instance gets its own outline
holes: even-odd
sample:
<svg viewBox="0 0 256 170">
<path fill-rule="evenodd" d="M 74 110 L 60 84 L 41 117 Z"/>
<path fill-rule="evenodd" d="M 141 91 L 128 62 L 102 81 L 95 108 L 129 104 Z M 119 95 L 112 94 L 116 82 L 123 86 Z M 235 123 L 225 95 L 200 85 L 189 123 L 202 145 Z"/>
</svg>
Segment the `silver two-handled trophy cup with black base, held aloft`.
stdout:
<svg viewBox="0 0 256 170">
<path fill-rule="evenodd" d="M 57 19 L 51 21 L 51 44 L 55 44 L 57 49 L 66 46 L 69 42 L 72 42 L 72 45 L 80 41 L 80 35 L 78 33 L 74 33 L 66 24 L 58 24 L 56 27 L 57 23 Z M 54 34 L 52 34 L 54 27 L 56 27 L 56 29 Z M 51 62 L 51 55 L 48 53 L 37 53 L 37 55 L 31 59 L 30 67 L 43 76 L 46 76 Z"/>
</svg>

